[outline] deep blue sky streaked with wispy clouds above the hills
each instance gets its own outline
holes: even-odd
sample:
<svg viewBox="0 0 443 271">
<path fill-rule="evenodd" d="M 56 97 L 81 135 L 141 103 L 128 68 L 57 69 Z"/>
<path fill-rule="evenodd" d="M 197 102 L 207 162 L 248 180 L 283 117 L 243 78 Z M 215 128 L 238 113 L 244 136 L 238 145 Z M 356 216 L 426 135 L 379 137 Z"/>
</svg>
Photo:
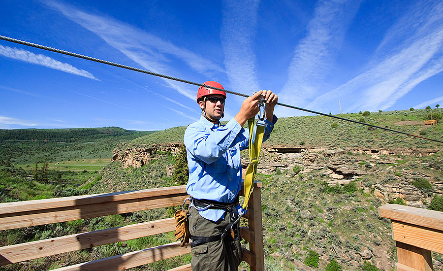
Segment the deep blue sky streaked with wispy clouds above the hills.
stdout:
<svg viewBox="0 0 443 271">
<path fill-rule="evenodd" d="M 3 0 L 0 35 L 324 113 L 443 103 L 438 0 Z M 186 126 L 196 90 L 0 40 L 0 129 Z"/>
</svg>

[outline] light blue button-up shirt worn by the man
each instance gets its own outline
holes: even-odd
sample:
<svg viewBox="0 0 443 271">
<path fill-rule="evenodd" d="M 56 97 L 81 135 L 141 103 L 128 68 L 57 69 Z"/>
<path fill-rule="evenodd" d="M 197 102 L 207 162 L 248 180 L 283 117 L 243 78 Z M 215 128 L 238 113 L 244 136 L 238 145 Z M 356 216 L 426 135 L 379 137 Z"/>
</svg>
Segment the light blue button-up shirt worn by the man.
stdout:
<svg viewBox="0 0 443 271">
<path fill-rule="evenodd" d="M 276 122 L 275 115 L 272 123 L 265 119 L 263 141 L 269 138 Z M 234 202 L 242 186 L 240 151 L 249 147 L 249 131 L 235 119 L 217 125 L 202 116 L 188 126 L 184 142 L 188 155 L 188 194 L 194 199 Z M 212 221 L 224 216 L 224 210 L 207 209 L 199 213 Z"/>
</svg>

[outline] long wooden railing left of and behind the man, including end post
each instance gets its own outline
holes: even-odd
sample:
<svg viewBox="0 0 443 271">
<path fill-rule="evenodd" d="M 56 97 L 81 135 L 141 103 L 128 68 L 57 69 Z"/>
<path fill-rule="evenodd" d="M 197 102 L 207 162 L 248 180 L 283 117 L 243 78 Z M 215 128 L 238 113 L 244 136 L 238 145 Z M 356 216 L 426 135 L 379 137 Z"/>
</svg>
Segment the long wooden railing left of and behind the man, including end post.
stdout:
<svg viewBox="0 0 443 271">
<path fill-rule="evenodd" d="M 252 271 L 264 270 L 260 188 L 261 183 L 254 184 L 253 195 L 249 202 L 248 212 L 245 215 L 249 227 L 241 228 L 242 237 L 249 242 L 249 250 L 243 249 L 243 260 L 251 266 Z M 0 203 L 0 230 L 181 205 L 187 197 L 185 186 L 174 186 Z M 171 231 L 175 231 L 175 220 L 174 218 L 166 218 L 118 228 L 3 246 L 0 247 L 0 266 Z M 56 269 L 56 271 L 120 271 L 189 252 L 190 245 L 180 247 L 178 241 L 63 267 Z M 191 269 L 190 265 L 185 265 L 172 270 L 185 271 Z"/>
</svg>

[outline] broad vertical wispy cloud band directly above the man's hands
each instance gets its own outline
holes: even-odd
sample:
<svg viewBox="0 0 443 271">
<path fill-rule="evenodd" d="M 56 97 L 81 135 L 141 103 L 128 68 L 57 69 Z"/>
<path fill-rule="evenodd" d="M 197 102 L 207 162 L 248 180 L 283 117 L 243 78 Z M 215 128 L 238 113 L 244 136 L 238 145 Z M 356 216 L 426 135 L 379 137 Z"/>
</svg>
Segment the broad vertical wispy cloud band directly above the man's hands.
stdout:
<svg viewBox="0 0 443 271">
<path fill-rule="evenodd" d="M 258 0 L 223 1 L 221 42 L 231 86 L 241 93 L 258 90 L 257 60 L 253 50 Z"/>
</svg>

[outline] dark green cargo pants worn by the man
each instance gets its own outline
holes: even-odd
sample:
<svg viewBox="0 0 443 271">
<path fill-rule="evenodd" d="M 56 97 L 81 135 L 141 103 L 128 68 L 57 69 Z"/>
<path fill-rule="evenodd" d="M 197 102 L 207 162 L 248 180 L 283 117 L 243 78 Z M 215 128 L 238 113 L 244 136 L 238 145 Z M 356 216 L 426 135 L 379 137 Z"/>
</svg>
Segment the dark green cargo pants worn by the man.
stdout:
<svg viewBox="0 0 443 271">
<path fill-rule="evenodd" d="M 220 235 L 229 224 L 229 215 L 217 222 L 207 220 L 191 206 L 189 209 L 189 231 L 191 236 L 212 237 Z M 234 240 L 230 234 L 222 240 L 207 242 L 191 247 L 192 271 L 238 271 L 243 251 L 240 238 Z"/>
</svg>

